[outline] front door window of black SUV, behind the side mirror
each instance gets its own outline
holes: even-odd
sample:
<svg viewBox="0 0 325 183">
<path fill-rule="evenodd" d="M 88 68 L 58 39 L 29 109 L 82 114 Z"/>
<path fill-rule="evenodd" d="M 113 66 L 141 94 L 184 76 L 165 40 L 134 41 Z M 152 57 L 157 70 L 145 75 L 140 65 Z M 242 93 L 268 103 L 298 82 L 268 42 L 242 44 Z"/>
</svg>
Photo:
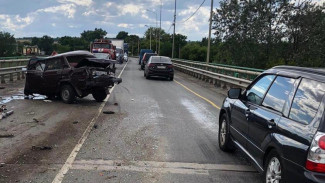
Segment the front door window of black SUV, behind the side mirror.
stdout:
<svg viewBox="0 0 325 183">
<path fill-rule="evenodd" d="M 247 101 L 260 105 L 262 103 L 263 96 L 271 85 L 274 77 L 274 75 L 266 75 L 258 80 L 249 90 L 247 90 Z"/>
</svg>

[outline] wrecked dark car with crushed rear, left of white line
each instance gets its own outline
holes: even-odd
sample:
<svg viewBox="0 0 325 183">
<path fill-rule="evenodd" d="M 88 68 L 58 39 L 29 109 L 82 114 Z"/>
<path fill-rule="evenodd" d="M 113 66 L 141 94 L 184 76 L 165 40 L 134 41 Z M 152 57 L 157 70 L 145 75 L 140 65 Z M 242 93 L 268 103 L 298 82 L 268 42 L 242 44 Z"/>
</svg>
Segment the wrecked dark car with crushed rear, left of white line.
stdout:
<svg viewBox="0 0 325 183">
<path fill-rule="evenodd" d="M 87 51 L 72 51 L 45 58 L 32 58 L 27 65 L 24 94 L 38 93 L 60 97 L 72 103 L 76 97 L 92 94 L 101 102 L 115 83 L 114 60 L 99 59 Z"/>
</svg>

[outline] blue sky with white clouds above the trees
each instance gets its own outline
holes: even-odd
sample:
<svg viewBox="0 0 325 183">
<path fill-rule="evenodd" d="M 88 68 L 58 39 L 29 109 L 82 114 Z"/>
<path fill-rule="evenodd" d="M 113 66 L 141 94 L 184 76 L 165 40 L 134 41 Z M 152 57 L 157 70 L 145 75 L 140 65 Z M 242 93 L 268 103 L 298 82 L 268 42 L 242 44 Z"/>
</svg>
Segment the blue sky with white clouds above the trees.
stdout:
<svg viewBox="0 0 325 183">
<path fill-rule="evenodd" d="M 203 0 L 178 0 L 177 22 L 187 19 Z M 176 24 L 176 33 L 188 40 L 201 40 L 208 35 L 210 0 L 185 23 Z M 162 28 L 171 26 L 174 0 L 162 0 Z M 10 32 L 15 37 L 49 35 L 52 37 L 80 36 L 84 30 L 102 28 L 108 37 L 119 31 L 140 37 L 147 29 L 156 26 L 160 0 L 0 0 L 0 31 Z M 214 0 L 214 9 L 219 0 Z M 169 33 L 172 33 L 170 29 Z"/>
</svg>

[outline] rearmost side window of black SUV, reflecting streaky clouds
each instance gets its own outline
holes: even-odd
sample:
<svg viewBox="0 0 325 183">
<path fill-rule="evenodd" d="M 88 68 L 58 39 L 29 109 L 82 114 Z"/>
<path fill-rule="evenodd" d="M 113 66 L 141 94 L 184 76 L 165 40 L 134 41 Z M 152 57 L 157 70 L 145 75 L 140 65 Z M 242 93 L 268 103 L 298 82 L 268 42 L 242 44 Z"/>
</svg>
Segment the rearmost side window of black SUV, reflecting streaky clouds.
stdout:
<svg viewBox="0 0 325 183">
<path fill-rule="evenodd" d="M 302 79 L 293 99 L 289 118 L 309 124 L 318 111 L 324 91 L 324 83 Z"/>
</svg>

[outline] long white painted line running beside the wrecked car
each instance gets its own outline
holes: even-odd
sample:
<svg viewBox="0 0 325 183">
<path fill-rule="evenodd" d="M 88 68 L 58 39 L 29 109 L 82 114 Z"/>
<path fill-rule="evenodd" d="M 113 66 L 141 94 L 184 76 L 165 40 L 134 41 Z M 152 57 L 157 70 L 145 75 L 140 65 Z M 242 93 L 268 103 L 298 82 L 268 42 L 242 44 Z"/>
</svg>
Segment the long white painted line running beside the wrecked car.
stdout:
<svg viewBox="0 0 325 183">
<path fill-rule="evenodd" d="M 123 67 L 121 73 L 119 74 L 118 78 L 121 77 L 125 67 L 127 66 L 129 62 L 127 62 L 125 64 L 125 66 Z M 74 149 L 72 150 L 72 152 L 70 153 L 68 159 L 65 161 L 64 165 L 62 166 L 62 168 L 60 169 L 59 173 L 55 176 L 54 180 L 52 181 L 52 183 L 61 183 L 65 174 L 69 171 L 69 169 L 72 167 L 72 164 L 74 162 L 74 160 L 77 157 L 78 152 L 80 151 L 82 145 L 84 144 L 84 142 L 86 141 L 86 139 L 88 138 L 91 129 L 93 128 L 96 120 L 98 119 L 99 115 L 102 113 L 102 110 L 105 106 L 105 104 L 107 103 L 109 97 L 111 96 L 112 91 L 114 90 L 116 85 L 114 85 L 110 90 L 109 90 L 109 95 L 106 97 L 106 99 L 104 100 L 104 102 L 100 105 L 100 107 L 98 108 L 98 112 L 95 115 L 95 117 L 91 120 L 91 122 L 89 123 L 88 127 L 86 128 L 85 132 L 82 134 L 81 138 L 79 139 L 77 145 L 74 147 Z"/>
</svg>

